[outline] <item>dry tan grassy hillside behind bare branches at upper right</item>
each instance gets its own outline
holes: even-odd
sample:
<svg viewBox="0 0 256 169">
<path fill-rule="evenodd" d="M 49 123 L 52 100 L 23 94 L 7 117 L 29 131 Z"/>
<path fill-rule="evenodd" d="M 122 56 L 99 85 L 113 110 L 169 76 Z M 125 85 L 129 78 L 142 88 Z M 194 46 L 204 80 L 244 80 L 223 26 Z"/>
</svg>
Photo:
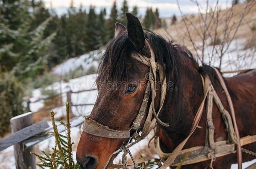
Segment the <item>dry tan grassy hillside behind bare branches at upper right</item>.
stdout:
<svg viewBox="0 0 256 169">
<path fill-rule="evenodd" d="M 250 5 L 250 4 L 249 4 Z M 242 13 L 242 10 L 244 8 L 245 4 L 238 4 L 234 5 L 233 7 L 221 10 L 219 13 L 219 25 L 217 26 L 217 35 L 219 35 L 219 38 L 223 38 L 223 32 L 225 30 L 225 19 L 227 17 L 227 13 L 232 10 L 232 18 L 230 19 L 229 23 L 229 30 L 228 32 L 230 34 L 234 33 L 235 27 L 238 25 L 238 21 L 240 19 L 240 15 Z M 252 34 L 252 25 L 256 21 L 256 5 L 249 6 L 250 10 L 247 10 L 245 12 L 245 16 L 241 22 L 240 27 L 238 28 L 238 31 L 235 35 L 235 39 L 238 38 L 251 38 Z M 211 15 L 211 13 L 208 13 L 207 15 Z M 203 14 L 203 16 L 200 16 L 199 14 L 193 14 L 193 15 L 184 15 L 188 20 L 188 27 L 191 33 L 191 38 L 195 42 L 200 42 L 201 38 L 200 35 L 202 35 L 202 25 L 204 25 L 202 21 L 202 17 L 205 17 L 206 14 Z M 214 16 L 215 17 L 215 16 Z M 209 21 L 210 22 L 210 21 Z M 209 24 L 211 28 L 209 28 L 209 31 L 211 31 L 211 34 L 214 34 L 214 29 L 216 25 L 212 21 L 212 23 Z M 165 31 L 164 28 L 159 28 L 155 30 L 155 32 L 159 33 L 165 38 L 175 40 L 175 43 L 185 45 L 189 48 L 189 50 L 193 50 L 191 40 L 187 38 L 187 30 L 185 28 L 185 24 L 183 20 L 180 20 L 175 25 L 170 25 Z"/>
</svg>

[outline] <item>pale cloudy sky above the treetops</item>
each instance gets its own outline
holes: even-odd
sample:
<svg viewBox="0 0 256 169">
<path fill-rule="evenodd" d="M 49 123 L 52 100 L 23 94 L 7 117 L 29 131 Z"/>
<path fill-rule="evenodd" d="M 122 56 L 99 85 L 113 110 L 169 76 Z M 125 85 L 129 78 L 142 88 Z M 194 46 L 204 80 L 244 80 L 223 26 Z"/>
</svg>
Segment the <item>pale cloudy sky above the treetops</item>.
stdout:
<svg viewBox="0 0 256 169">
<path fill-rule="evenodd" d="M 118 9 L 121 8 L 123 0 L 115 0 Z M 180 9 L 183 13 L 197 13 L 198 7 L 194 0 L 178 0 Z M 201 11 L 205 11 L 206 0 L 197 0 L 200 3 Z M 47 8 L 55 9 L 58 15 L 62 15 L 67 12 L 70 6 L 71 0 L 44 0 Z M 111 6 L 114 0 L 74 0 L 74 6 L 79 7 L 80 4 L 88 11 L 90 5 L 95 6 L 96 11 L 106 8 L 107 15 L 110 13 Z M 210 4 L 215 4 L 217 0 L 209 0 Z M 231 0 L 219 0 L 221 8 L 227 8 L 231 5 Z M 152 7 L 153 9 L 159 9 L 159 15 L 161 18 L 171 17 L 172 15 L 180 15 L 178 9 L 177 0 L 128 0 L 129 11 L 132 10 L 133 6 L 138 7 L 138 15 L 144 16 L 146 13 L 146 8 Z"/>
</svg>

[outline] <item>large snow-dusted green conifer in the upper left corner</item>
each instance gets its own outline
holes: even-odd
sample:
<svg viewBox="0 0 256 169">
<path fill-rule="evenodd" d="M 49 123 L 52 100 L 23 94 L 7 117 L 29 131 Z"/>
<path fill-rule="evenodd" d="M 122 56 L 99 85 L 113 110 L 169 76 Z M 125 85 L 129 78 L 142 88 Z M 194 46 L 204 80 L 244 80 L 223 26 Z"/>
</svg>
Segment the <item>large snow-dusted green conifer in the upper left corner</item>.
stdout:
<svg viewBox="0 0 256 169">
<path fill-rule="evenodd" d="M 15 76 L 24 79 L 44 70 L 48 57 L 44 52 L 55 33 L 47 37 L 44 35 L 52 18 L 36 26 L 31 25 L 34 19 L 31 3 L 27 0 L 14 1 L 3 1 L 5 10 L 0 11 L 0 69 L 12 71 Z"/>
</svg>

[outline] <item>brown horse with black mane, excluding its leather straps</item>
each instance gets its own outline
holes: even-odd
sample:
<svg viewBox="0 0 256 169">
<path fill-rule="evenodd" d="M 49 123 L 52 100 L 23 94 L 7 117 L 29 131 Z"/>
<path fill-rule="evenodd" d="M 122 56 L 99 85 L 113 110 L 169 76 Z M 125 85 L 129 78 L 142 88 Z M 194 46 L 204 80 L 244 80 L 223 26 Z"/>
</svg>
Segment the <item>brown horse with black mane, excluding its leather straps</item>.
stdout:
<svg viewBox="0 0 256 169">
<path fill-rule="evenodd" d="M 127 14 L 128 28 L 116 24 L 115 38 L 108 44 L 102 56 L 98 70 L 97 87 L 99 94 L 90 118 L 110 129 L 128 130 L 131 128 L 143 101 L 146 74 L 149 67 L 136 61 L 132 54 L 139 53 L 151 57 L 149 42 L 154 51 L 155 60 L 165 65 L 167 85 L 169 85 L 164 106 L 159 119 L 170 124 L 159 125 L 159 139 L 162 150 L 172 152 L 189 134 L 196 111 L 203 100 L 201 76 L 208 75 L 215 91 L 227 111 L 230 111 L 227 97 L 219 83 L 216 72 L 210 66 L 199 66 L 192 54 L 180 45 L 167 42 L 160 35 L 142 30 L 138 19 Z M 141 34 L 142 32 L 142 34 Z M 240 137 L 256 134 L 256 70 L 240 73 L 232 78 L 224 78 L 232 98 Z M 124 87 L 117 84 L 125 82 Z M 111 87 L 109 87 L 111 86 Z M 112 87 L 115 86 L 115 87 Z M 159 108 L 160 90 L 157 91 L 154 106 Z M 150 102 L 150 101 L 149 101 Z M 141 123 L 144 125 L 146 116 Z M 215 126 L 214 141 L 227 140 L 227 132 L 222 115 L 213 105 L 212 119 Z M 204 146 L 206 135 L 206 108 L 204 108 L 201 128 L 197 128 L 184 149 L 193 146 Z M 110 139 L 93 136 L 83 132 L 77 147 L 76 157 L 83 169 L 111 168 L 115 155 L 128 139 Z M 244 146 L 256 151 L 256 143 Z M 255 157 L 243 153 L 243 162 Z M 230 168 L 236 163 L 236 154 L 218 157 L 213 162 L 215 169 Z M 188 169 L 209 168 L 210 160 L 182 166 Z"/>
</svg>

